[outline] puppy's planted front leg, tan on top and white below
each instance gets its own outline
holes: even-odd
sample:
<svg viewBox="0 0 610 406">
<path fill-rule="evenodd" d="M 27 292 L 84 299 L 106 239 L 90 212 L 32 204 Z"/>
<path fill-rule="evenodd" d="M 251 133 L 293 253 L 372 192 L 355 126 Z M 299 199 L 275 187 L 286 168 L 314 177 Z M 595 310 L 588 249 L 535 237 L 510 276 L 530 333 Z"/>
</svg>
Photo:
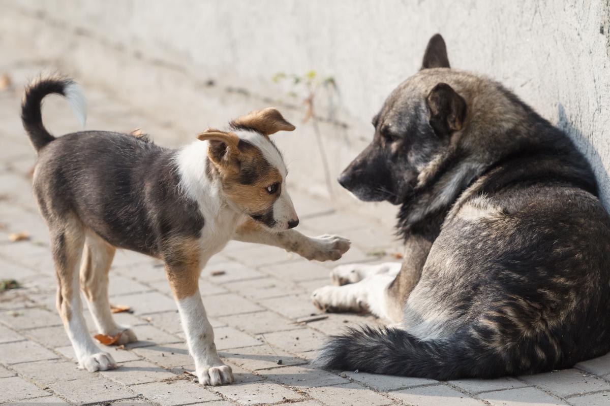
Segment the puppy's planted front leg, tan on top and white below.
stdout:
<svg viewBox="0 0 610 406">
<path fill-rule="evenodd" d="M 198 256 L 180 257 L 178 261 L 168 263 L 165 270 L 178 304 L 188 351 L 195 359 L 199 383 L 215 386 L 233 382 L 231 367 L 224 365 L 218 357 L 212 325 L 199 294 Z"/>
</svg>

